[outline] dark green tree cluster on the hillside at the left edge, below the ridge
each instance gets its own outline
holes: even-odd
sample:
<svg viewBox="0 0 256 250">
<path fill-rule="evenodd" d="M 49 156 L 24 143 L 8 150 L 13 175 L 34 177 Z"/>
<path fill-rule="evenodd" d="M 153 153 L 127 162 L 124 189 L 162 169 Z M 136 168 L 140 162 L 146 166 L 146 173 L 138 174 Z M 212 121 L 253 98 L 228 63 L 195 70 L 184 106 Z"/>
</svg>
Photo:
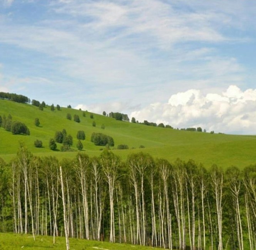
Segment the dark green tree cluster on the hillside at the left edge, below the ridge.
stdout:
<svg viewBox="0 0 256 250">
<path fill-rule="evenodd" d="M 9 114 L 6 118 L 3 115 L 3 118 L 0 116 L 0 127 L 3 127 L 6 131 L 12 132 L 13 135 L 30 135 L 30 130 L 27 125 L 22 122 L 13 121 L 12 116 Z"/>
</svg>

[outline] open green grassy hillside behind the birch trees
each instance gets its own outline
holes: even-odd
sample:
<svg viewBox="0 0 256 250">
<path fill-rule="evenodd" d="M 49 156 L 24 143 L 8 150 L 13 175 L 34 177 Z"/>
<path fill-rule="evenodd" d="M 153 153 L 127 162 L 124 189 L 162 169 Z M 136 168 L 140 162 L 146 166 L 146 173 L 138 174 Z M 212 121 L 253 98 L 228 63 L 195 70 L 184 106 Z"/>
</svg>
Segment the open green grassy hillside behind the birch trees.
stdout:
<svg viewBox="0 0 256 250">
<path fill-rule="evenodd" d="M 76 123 L 66 119 L 67 113 L 79 115 L 81 122 Z M 140 124 L 116 121 L 113 118 L 70 108 L 61 108 L 60 111 L 50 111 L 50 107 L 40 111 L 37 107 L 28 104 L 14 103 L 0 100 L 0 115 L 11 114 L 13 120 L 24 122 L 30 129 L 30 136 L 12 135 L 12 133 L 0 128 L 0 157 L 7 162 L 15 157 L 19 141 L 25 145 L 34 155 L 55 155 L 58 158 L 74 157 L 77 152 L 53 152 L 49 149 L 50 138 L 54 138 L 55 131 L 65 128 L 67 133 L 73 136 L 74 149 L 76 149 L 76 133 L 84 130 L 86 139 L 83 141 L 84 152 L 90 156 L 99 155 L 100 148 L 90 142 L 92 132 L 102 132 L 114 138 L 115 147 L 119 144 L 127 144 L 129 150 L 113 150 L 125 159 L 131 152 L 147 152 L 155 158 L 166 158 L 170 162 L 181 158 L 182 160 L 194 159 L 202 162 L 206 167 L 216 163 L 222 167 L 236 165 L 244 167 L 256 163 L 256 137 L 241 135 L 209 134 L 199 132 L 187 132 L 167 128 L 150 127 Z M 40 126 L 34 125 L 35 118 L 40 120 Z M 92 127 L 92 121 L 96 127 Z M 101 129 L 104 123 L 105 130 Z M 44 148 L 35 148 L 33 142 L 42 140 Z M 140 149 L 144 145 L 146 148 Z M 58 144 L 58 148 L 60 148 Z"/>
</svg>

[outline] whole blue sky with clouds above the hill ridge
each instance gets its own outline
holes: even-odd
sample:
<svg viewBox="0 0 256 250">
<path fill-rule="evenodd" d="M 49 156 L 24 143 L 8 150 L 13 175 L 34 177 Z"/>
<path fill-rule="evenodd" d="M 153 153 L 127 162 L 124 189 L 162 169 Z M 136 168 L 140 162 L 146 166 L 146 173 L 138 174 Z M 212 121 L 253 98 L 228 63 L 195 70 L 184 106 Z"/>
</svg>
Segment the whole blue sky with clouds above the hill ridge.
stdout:
<svg viewBox="0 0 256 250">
<path fill-rule="evenodd" d="M 0 0 L 0 91 L 256 133 L 254 0 Z"/>
</svg>

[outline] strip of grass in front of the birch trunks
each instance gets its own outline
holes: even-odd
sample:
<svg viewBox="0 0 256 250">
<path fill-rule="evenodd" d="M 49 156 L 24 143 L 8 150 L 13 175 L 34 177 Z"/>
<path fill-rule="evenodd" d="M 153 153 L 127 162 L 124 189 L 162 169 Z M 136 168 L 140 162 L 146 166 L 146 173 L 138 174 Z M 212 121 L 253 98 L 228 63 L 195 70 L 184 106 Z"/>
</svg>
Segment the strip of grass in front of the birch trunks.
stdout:
<svg viewBox="0 0 256 250">
<path fill-rule="evenodd" d="M 100 242 L 95 240 L 69 239 L 70 250 L 149 250 L 159 249 L 152 247 L 134 246 L 129 244 Z M 32 235 L 14 234 L 14 233 L 0 233 L 0 250 L 16 250 L 16 249 L 66 249 L 66 242 L 64 237 L 56 237 L 55 244 L 53 244 L 53 237 L 50 236 L 36 236 L 35 241 Z"/>
</svg>

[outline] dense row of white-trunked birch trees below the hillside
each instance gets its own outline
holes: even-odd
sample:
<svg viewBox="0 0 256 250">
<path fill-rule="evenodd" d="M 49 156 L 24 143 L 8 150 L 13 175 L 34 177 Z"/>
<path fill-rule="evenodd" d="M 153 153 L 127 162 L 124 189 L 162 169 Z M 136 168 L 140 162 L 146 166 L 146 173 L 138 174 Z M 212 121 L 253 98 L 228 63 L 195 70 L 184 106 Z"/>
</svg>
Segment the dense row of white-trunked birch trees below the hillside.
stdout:
<svg viewBox="0 0 256 250">
<path fill-rule="evenodd" d="M 225 171 L 111 150 L 0 160 L 0 231 L 168 249 L 256 249 L 256 165 Z M 68 241 L 67 241 L 68 244 Z"/>
</svg>

